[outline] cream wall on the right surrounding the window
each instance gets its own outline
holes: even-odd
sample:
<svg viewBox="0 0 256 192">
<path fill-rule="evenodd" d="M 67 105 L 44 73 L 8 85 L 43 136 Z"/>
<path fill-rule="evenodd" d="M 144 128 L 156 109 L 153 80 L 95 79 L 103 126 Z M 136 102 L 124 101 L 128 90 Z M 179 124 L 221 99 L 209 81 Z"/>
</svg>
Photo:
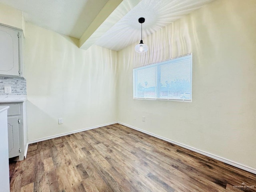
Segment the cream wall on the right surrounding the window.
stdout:
<svg viewBox="0 0 256 192">
<path fill-rule="evenodd" d="M 118 52 L 118 121 L 256 169 L 255 10 L 216 0 Z M 190 52 L 191 103 L 132 99 L 134 67 Z"/>
</svg>

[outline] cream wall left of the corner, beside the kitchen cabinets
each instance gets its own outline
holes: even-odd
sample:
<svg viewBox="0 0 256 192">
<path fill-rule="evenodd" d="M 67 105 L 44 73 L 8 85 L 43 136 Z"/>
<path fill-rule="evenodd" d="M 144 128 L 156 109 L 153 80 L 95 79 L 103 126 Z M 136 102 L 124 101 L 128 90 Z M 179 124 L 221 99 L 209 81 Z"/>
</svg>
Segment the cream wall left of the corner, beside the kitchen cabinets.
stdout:
<svg viewBox="0 0 256 192">
<path fill-rule="evenodd" d="M 115 51 L 26 23 L 28 140 L 115 122 Z M 63 118 L 64 124 L 58 124 Z"/>
</svg>

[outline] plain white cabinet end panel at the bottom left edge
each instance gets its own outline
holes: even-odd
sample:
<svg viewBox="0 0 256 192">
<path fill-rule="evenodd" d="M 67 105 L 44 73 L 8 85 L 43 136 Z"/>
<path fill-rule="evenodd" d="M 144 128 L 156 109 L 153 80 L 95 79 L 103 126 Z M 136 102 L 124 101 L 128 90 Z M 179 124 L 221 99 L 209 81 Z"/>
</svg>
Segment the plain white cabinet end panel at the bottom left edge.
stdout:
<svg viewBox="0 0 256 192">
<path fill-rule="evenodd" d="M 8 107 L 0 106 L 0 191 L 4 192 L 10 192 L 7 109 Z"/>
</svg>

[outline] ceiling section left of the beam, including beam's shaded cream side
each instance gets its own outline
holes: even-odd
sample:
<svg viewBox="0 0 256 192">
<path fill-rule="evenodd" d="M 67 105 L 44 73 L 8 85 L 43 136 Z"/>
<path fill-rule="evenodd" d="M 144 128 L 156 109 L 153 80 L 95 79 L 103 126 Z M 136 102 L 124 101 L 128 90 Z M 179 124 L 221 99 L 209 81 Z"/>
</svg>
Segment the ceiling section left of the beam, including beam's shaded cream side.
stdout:
<svg viewBox="0 0 256 192">
<path fill-rule="evenodd" d="M 0 0 L 24 12 L 26 22 L 80 38 L 108 0 Z"/>
</svg>

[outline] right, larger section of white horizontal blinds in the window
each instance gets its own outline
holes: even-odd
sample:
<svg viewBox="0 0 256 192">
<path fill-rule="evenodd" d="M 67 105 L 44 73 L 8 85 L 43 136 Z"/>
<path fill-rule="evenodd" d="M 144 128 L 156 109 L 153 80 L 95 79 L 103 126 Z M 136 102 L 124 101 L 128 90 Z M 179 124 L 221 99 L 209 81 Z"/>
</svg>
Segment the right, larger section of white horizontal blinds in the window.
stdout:
<svg viewBox="0 0 256 192">
<path fill-rule="evenodd" d="M 191 64 L 191 55 L 182 56 L 180 58 L 175 58 L 159 63 L 159 98 L 173 100 L 191 100 Z"/>
</svg>

